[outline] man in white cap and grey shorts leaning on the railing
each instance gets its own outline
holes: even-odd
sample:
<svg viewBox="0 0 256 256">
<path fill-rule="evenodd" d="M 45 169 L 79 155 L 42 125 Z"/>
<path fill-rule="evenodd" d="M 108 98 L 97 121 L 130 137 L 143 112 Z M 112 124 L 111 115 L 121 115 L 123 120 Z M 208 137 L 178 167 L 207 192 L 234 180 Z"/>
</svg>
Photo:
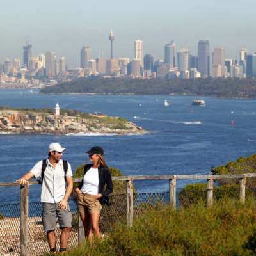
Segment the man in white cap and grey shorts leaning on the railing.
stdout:
<svg viewBox="0 0 256 256">
<path fill-rule="evenodd" d="M 61 159 L 65 150 L 59 143 L 51 143 L 49 145 L 48 159 L 46 161 L 39 161 L 31 171 L 23 175 L 19 180 L 16 180 L 20 185 L 25 185 L 33 177 L 40 177 L 42 179 L 42 221 L 47 234 L 50 252 L 52 253 L 56 252 L 56 216 L 61 228 L 61 253 L 66 251 L 72 227 L 72 213 L 68 205 L 68 198 L 72 193 L 73 180 L 70 164 Z"/>
</svg>

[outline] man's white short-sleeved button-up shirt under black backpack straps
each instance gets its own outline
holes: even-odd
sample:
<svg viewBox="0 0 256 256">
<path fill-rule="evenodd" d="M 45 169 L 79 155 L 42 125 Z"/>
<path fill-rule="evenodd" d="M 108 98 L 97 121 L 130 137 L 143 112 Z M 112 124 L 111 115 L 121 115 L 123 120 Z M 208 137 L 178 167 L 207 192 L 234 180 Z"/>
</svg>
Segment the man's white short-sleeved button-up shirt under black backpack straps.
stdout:
<svg viewBox="0 0 256 256">
<path fill-rule="evenodd" d="M 35 175 L 36 178 L 40 177 L 42 179 L 42 164 L 42 160 L 37 162 L 30 171 Z M 42 182 L 41 202 L 58 203 L 64 198 L 66 193 L 66 184 L 64 176 L 65 171 L 63 168 L 62 159 L 56 164 L 55 168 L 47 159 L 46 168 L 44 171 L 44 181 Z M 73 176 L 71 166 L 69 163 L 66 176 Z"/>
</svg>

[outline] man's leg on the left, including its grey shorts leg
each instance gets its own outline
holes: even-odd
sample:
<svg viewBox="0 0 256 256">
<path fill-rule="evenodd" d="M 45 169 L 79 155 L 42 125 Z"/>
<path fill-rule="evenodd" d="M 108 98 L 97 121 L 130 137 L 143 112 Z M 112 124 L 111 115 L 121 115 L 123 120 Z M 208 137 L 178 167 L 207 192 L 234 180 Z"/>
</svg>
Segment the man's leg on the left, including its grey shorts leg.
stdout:
<svg viewBox="0 0 256 256">
<path fill-rule="evenodd" d="M 56 207 L 54 204 L 43 204 L 43 225 L 46 232 L 47 241 L 50 249 L 56 248 L 56 237 L 55 237 L 55 227 L 56 227 Z"/>
</svg>

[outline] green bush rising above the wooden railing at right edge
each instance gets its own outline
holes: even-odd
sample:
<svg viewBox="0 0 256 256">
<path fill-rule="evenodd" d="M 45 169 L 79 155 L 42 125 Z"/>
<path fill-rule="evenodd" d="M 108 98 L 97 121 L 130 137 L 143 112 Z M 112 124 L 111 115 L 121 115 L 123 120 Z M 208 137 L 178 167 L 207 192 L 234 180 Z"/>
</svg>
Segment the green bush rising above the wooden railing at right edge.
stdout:
<svg viewBox="0 0 256 256">
<path fill-rule="evenodd" d="M 213 168 L 212 174 L 241 174 L 256 172 L 256 154 L 249 157 L 240 157 L 236 161 L 232 161 L 223 166 Z M 238 184 L 239 179 L 221 179 L 219 184 Z M 256 178 L 246 178 L 246 186 L 248 188 L 256 188 Z"/>
</svg>

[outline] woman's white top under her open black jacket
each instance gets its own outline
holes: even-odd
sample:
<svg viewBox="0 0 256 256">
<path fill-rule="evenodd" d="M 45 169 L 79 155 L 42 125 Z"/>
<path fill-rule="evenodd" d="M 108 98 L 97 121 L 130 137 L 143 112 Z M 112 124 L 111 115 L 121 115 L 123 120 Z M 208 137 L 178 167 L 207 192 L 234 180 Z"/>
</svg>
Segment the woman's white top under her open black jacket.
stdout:
<svg viewBox="0 0 256 256">
<path fill-rule="evenodd" d="M 97 195 L 99 188 L 99 170 L 98 168 L 90 168 L 84 175 L 83 187 L 81 191 L 90 195 Z"/>
</svg>

